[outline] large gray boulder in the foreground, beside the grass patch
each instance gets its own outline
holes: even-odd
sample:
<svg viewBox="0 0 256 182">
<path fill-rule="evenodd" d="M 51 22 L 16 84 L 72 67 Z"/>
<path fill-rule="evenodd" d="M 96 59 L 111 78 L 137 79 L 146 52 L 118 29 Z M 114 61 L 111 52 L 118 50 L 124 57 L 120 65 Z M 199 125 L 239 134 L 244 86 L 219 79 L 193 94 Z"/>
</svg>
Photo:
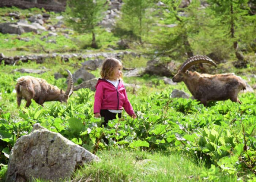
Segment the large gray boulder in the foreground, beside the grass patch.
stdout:
<svg viewBox="0 0 256 182">
<path fill-rule="evenodd" d="M 32 181 L 33 177 L 60 181 L 71 177 L 76 167 L 98 160 L 83 147 L 37 123 L 12 148 L 5 181 Z"/>
</svg>

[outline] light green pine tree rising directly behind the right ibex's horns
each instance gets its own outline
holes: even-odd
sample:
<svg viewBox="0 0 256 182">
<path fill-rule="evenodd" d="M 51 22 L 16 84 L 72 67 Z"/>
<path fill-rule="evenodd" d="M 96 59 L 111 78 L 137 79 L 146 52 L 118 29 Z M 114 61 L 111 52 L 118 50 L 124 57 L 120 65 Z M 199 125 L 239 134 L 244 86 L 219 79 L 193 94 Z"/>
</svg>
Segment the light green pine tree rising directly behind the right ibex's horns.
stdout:
<svg viewBox="0 0 256 182">
<path fill-rule="evenodd" d="M 191 42 L 200 31 L 197 21 L 199 1 L 192 1 L 186 8 L 180 8 L 180 0 L 163 0 L 163 18 L 165 24 L 155 32 L 151 43 L 158 54 L 177 59 L 193 56 Z"/>
</svg>

